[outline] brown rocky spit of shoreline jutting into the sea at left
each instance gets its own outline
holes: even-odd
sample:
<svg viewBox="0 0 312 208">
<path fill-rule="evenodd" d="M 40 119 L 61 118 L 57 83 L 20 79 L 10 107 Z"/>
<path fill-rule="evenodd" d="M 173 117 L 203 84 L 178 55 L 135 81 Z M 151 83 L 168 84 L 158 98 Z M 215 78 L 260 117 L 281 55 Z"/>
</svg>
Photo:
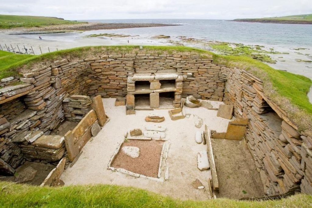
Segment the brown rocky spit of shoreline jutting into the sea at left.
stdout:
<svg viewBox="0 0 312 208">
<path fill-rule="evenodd" d="M 113 30 L 139 27 L 166 27 L 179 26 L 178 24 L 161 23 L 101 23 L 88 22 L 79 24 L 49 25 L 43 27 L 15 27 L 10 29 L 0 29 L 1 32 L 34 32 L 34 31 L 91 31 L 91 30 Z"/>
</svg>

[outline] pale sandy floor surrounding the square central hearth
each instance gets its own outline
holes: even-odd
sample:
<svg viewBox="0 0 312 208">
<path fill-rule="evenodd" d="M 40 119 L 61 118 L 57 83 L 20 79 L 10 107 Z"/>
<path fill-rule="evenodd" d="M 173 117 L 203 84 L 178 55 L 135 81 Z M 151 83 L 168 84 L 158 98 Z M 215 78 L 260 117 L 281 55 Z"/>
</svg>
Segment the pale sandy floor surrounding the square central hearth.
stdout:
<svg viewBox="0 0 312 208">
<path fill-rule="evenodd" d="M 65 170 L 61 180 L 65 185 L 70 184 L 116 184 L 135 186 L 149 191 L 161 193 L 181 199 L 206 200 L 209 197 L 207 179 L 211 176 L 210 170 L 197 169 L 196 155 L 207 146 L 195 142 L 196 131 L 204 131 L 204 126 L 198 129 L 190 118 L 172 121 L 168 110 L 136 111 L 135 115 L 126 115 L 125 106 L 115 107 L 115 99 L 103 99 L 105 112 L 110 121 L 100 133 L 91 139 L 83 148 L 83 153 L 76 164 Z M 222 102 L 211 101 L 214 107 Z M 217 117 L 217 111 L 205 108 L 184 108 L 185 113 L 197 114 L 210 129 L 218 132 L 226 131 L 227 119 Z M 162 114 L 165 121 L 160 123 L 167 127 L 166 139 L 171 144 L 168 152 L 169 180 L 164 182 L 152 181 L 144 178 L 134 178 L 119 172 L 107 170 L 108 162 L 118 145 L 123 141 L 126 131 L 133 128 L 144 129 L 150 124 L 144 121 L 149 113 Z M 163 176 L 162 176 L 163 177 Z M 198 179 L 205 186 L 199 190 L 192 187 L 192 182 Z"/>
</svg>

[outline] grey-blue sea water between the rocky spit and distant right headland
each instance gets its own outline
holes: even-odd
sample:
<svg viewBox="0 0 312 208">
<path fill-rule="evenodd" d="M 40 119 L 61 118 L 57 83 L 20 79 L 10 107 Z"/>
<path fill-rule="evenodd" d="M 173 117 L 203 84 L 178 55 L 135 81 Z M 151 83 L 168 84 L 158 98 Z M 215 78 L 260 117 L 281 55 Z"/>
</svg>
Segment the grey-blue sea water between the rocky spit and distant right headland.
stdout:
<svg viewBox="0 0 312 208">
<path fill-rule="evenodd" d="M 120 19 L 85 20 L 104 23 L 164 23 L 181 24 L 172 27 L 145 27 L 112 30 L 115 33 L 152 36 L 187 36 L 206 40 L 253 45 L 312 47 L 312 25 L 229 22 L 226 20 L 190 19 Z"/>
</svg>

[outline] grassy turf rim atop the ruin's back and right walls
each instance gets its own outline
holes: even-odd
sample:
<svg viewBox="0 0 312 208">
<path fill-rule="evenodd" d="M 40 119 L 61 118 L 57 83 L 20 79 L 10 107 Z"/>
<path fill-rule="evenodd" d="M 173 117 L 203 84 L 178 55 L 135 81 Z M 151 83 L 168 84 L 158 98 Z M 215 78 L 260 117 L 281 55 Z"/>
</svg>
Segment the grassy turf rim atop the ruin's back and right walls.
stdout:
<svg viewBox="0 0 312 208">
<path fill-rule="evenodd" d="M 215 64 L 237 67 L 255 75 L 263 81 L 266 97 L 283 109 L 299 130 L 312 131 L 312 104 L 307 97 L 312 81 L 302 75 L 275 70 L 260 61 L 245 56 L 222 56 L 185 46 L 143 46 L 143 49 L 139 49 L 139 46 L 87 46 L 31 56 L 21 61 L 12 59 L 7 66 L 1 67 L 0 78 L 17 75 L 18 71 L 29 70 L 32 67 L 51 65 L 53 60 L 64 58 L 74 61 L 106 54 L 174 54 L 183 52 L 188 52 L 191 55 L 199 54 L 202 58 L 213 59 Z"/>
</svg>

